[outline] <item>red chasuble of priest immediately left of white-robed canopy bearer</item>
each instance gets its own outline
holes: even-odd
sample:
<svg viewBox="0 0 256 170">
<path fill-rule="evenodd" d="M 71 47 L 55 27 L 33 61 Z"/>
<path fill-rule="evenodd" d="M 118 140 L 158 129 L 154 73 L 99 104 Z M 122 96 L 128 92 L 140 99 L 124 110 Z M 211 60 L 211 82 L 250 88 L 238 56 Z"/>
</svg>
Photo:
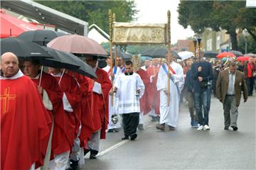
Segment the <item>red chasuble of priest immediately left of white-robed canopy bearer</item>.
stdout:
<svg viewBox="0 0 256 170">
<path fill-rule="evenodd" d="M 160 108 L 160 91 L 157 91 L 157 88 L 156 88 L 159 67 L 151 66 L 148 69 L 146 69 L 146 72 L 149 75 L 149 78 L 151 76 L 156 76 L 152 79 L 153 81 L 151 82 L 151 87 L 150 87 L 151 93 L 149 93 L 149 102 L 151 103 L 152 107 L 154 108 L 155 113 L 160 114 L 160 110 L 159 110 L 159 108 Z"/>
</svg>

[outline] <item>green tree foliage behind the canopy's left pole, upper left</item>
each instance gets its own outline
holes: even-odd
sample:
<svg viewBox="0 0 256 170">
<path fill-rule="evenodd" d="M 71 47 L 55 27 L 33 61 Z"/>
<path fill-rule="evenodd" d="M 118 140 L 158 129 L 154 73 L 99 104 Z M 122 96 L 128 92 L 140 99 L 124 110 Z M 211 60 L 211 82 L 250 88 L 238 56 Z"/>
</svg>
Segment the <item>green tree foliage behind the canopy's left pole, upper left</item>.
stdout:
<svg viewBox="0 0 256 170">
<path fill-rule="evenodd" d="M 109 32 L 108 11 L 112 10 L 117 16 L 117 22 L 136 21 L 137 14 L 134 1 L 37 1 L 55 10 L 67 13 L 70 16 L 80 18 L 91 25 L 97 26 Z"/>
</svg>

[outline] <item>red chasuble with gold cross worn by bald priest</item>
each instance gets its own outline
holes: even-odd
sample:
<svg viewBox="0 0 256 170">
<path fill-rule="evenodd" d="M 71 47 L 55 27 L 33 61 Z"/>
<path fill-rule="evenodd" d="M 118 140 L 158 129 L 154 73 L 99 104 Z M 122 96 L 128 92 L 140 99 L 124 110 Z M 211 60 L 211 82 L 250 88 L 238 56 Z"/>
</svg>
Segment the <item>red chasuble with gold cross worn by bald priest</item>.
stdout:
<svg viewBox="0 0 256 170">
<path fill-rule="evenodd" d="M 1 169 L 29 169 L 43 159 L 50 118 L 31 79 L 1 79 Z"/>
</svg>

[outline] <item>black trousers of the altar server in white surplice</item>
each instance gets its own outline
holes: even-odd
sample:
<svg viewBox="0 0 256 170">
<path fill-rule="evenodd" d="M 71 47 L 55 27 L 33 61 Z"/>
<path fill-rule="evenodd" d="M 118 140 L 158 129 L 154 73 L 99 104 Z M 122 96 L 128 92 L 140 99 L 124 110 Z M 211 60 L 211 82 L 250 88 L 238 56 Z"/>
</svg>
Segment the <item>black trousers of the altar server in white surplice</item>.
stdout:
<svg viewBox="0 0 256 170">
<path fill-rule="evenodd" d="M 135 112 L 122 114 L 122 123 L 125 137 L 135 134 L 139 125 L 139 113 Z"/>
</svg>

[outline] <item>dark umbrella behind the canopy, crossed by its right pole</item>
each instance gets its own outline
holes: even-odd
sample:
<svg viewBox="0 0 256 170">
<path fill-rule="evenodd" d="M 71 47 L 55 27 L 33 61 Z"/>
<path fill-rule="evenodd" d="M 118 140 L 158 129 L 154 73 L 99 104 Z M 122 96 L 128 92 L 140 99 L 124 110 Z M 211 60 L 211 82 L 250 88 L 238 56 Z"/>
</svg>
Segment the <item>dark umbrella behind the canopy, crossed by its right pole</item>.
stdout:
<svg viewBox="0 0 256 170">
<path fill-rule="evenodd" d="M 148 50 L 142 52 L 142 56 L 149 56 L 153 58 L 164 58 L 166 56 L 167 49 L 164 47 L 152 47 Z M 171 50 L 171 55 L 174 55 L 177 59 L 181 59 L 178 53 L 174 50 Z"/>
</svg>

